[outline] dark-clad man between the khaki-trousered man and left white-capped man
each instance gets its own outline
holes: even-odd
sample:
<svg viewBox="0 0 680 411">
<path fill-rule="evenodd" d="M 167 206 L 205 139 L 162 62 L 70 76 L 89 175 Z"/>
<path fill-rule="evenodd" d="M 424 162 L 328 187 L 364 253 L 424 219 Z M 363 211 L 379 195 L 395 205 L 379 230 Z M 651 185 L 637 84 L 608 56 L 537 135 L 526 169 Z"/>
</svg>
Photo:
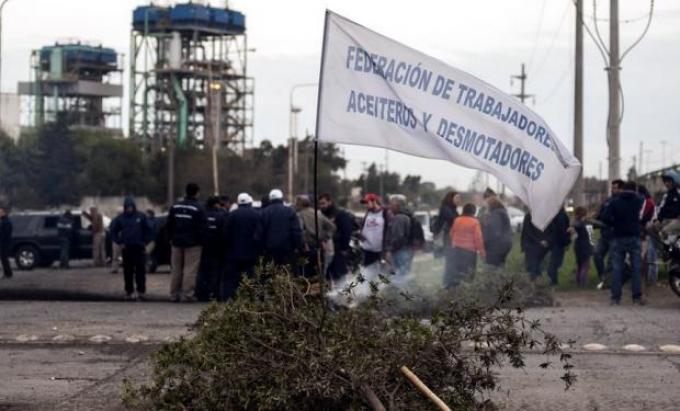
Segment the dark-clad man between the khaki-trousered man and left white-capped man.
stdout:
<svg viewBox="0 0 680 411">
<path fill-rule="evenodd" d="M 205 207 L 201 268 L 198 272 L 196 296 L 201 301 L 219 297 L 219 283 L 224 271 L 224 220 L 225 213 L 219 197 L 210 197 Z"/>
</svg>

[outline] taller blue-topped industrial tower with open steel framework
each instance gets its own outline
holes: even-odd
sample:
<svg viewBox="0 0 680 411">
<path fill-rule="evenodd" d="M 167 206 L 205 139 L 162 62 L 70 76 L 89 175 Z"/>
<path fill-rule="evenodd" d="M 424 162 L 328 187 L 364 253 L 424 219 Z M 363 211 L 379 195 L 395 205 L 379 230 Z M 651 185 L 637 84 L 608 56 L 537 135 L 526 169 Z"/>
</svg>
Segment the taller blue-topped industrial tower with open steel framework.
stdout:
<svg viewBox="0 0 680 411">
<path fill-rule="evenodd" d="M 243 14 L 195 3 L 137 7 L 130 53 L 129 132 L 146 150 L 176 143 L 242 152 L 250 143 Z"/>
</svg>

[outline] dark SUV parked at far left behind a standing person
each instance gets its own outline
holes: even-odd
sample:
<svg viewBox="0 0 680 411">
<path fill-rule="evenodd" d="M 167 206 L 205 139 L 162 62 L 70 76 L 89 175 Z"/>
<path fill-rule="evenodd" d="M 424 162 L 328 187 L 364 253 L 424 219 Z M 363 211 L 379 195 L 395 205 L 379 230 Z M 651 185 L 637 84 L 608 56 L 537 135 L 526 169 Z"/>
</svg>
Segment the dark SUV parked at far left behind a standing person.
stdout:
<svg viewBox="0 0 680 411">
<path fill-rule="evenodd" d="M 20 270 L 49 267 L 59 259 L 57 221 L 60 213 L 18 213 L 11 216 L 12 255 Z M 74 239 L 71 259 L 92 258 L 90 223 L 80 213 L 73 214 Z"/>
</svg>

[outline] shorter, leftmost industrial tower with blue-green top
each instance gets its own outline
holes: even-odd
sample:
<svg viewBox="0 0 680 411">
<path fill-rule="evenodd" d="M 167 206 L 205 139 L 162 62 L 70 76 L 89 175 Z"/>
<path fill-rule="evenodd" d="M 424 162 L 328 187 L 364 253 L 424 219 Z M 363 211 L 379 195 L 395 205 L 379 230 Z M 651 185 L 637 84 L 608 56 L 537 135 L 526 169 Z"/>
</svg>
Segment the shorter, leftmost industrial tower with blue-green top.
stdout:
<svg viewBox="0 0 680 411">
<path fill-rule="evenodd" d="M 28 82 L 28 125 L 40 127 L 61 119 L 69 126 L 121 128 L 122 57 L 101 45 L 69 41 L 31 53 Z"/>
</svg>

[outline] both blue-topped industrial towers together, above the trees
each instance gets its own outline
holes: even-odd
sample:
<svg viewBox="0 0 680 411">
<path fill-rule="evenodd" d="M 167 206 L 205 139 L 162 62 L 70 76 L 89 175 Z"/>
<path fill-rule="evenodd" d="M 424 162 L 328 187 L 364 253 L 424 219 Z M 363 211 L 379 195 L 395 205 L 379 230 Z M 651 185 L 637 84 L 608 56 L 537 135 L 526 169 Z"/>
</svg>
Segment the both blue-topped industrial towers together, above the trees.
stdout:
<svg viewBox="0 0 680 411">
<path fill-rule="evenodd" d="M 139 6 L 132 12 L 127 97 L 123 54 L 58 42 L 31 53 L 29 81 L 18 86 L 22 126 L 60 119 L 71 127 L 125 129 L 148 153 L 171 144 L 242 153 L 253 125 L 247 54 L 238 11 L 193 2 Z"/>
</svg>

